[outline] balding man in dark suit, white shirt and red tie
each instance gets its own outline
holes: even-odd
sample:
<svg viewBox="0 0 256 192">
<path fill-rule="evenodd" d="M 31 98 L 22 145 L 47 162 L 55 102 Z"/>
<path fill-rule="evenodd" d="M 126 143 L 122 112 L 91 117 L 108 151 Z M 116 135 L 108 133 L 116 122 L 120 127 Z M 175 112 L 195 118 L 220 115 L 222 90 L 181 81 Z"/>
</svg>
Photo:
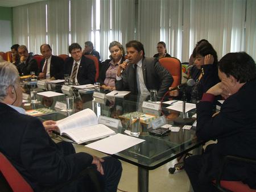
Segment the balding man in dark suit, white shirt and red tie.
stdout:
<svg viewBox="0 0 256 192">
<path fill-rule="evenodd" d="M 41 61 L 39 79 L 61 80 L 64 78 L 64 61 L 60 57 L 52 55 L 49 44 L 40 46 L 40 51 L 44 57 Z"/>
</svg>

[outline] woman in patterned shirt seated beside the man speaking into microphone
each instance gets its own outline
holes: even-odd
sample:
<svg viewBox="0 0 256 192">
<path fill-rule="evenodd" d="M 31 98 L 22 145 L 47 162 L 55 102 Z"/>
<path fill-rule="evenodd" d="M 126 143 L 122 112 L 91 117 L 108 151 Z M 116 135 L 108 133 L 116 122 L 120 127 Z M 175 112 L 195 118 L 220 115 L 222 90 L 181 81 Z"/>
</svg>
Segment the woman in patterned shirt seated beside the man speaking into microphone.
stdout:
<svg viewBox="0 0 256 192">
<path fill-rule="evenodd" d="M 117 76 L 118 65 L 125 60 L 125 49 L 118 41 L 109 44 L 110 59 L 102 62 L 98 82 L 103 89 L 115 90 L 115 78 Z"/>
</svg>

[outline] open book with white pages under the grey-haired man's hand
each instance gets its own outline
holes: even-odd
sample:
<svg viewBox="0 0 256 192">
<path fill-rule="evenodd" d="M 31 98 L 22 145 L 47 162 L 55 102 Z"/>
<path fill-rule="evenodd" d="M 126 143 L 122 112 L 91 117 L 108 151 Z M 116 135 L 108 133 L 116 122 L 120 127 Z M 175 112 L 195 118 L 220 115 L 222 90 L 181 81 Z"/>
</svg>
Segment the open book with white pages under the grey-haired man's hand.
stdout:
<svg viewBox="0 0 256 192">
<path fill-rule="evenodd" d="M 104 124 L 98 124 L 96 114 L 89 108 L 59 120 L 57 126 L 60 135 L 67 135 L 78 144 L 115 134 Z"/>
</svg>

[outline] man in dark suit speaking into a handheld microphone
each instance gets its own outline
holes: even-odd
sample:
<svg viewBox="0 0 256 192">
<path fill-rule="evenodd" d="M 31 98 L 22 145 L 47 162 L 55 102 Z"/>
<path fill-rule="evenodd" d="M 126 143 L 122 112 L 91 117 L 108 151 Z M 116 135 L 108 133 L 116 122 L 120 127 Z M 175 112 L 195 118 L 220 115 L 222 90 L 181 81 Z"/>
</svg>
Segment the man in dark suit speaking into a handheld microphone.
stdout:
<svg viewBox="0 0 256 192">
<path fill-rule="evenodd" d="M 171 74 L 154 58 L 144 57 L 141 42 L 129 41 L 126 50 L 129 64 L 123 62 L 119 65 L 115 89 L 129 90 L 135 95 L 149 95 L 150 89 L 156 89 L 157 97 L 161 99 L 173 82 Z"/>
</svg>

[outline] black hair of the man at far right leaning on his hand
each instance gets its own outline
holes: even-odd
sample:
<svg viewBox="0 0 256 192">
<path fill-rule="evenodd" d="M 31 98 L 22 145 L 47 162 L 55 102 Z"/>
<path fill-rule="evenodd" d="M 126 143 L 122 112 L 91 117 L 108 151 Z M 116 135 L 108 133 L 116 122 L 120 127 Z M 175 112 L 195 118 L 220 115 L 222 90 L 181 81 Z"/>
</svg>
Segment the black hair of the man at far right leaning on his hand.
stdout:
<svg viewBox="0 0 256 192">
<path fill-rule="evenodd" d="M 227 77 L 233 76 L 240 83 L 256 77 L 255 61 L 246 52 L 228 53 L 218 62 L 218 69 Z"/>
</svg>

